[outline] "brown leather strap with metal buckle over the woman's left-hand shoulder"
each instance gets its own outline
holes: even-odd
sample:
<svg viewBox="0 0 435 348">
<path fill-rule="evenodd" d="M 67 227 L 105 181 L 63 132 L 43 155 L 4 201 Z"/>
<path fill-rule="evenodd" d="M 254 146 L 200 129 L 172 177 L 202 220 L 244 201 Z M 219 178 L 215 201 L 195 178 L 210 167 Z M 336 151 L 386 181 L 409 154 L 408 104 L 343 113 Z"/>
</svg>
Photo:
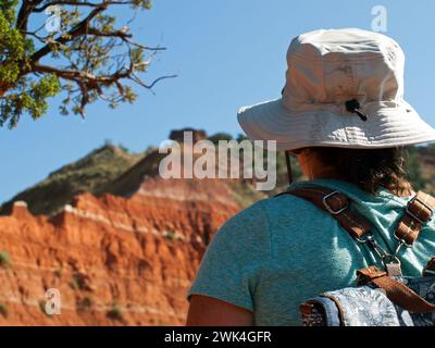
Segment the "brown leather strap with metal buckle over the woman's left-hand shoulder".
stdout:
<svg viewBox="0 0 435 348">
<path fill-rule="evenodd" d="M 371 229 L 370 223 L 362 215 L 352 212 L 349 209 L 349 199 L 337 190 L 315 186 L 298 188 L 281 195 L 285 194 L 304 198 L 320 209 L 331 213 L 339 225 L 355 238 L 361 238 Z"/>
</svg>

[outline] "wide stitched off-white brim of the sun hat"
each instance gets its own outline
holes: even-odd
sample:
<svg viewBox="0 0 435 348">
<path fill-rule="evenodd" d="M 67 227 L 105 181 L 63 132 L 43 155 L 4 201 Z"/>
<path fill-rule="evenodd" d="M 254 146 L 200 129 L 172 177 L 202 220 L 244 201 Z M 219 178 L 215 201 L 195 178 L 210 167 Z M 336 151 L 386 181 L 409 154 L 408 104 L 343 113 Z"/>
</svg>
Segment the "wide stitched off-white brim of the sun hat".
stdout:
<svg viewBox="0 0 435 348">
<path fill-rule="evenodd" d="M 331 110 L 290 112 L 275 99 L 244 107 L 238 122 L 251 140 L 275 140 L 277 150 L 330 146 L 390 148 L 435 141 L 435 129 L 406 101 L 370 103 L 368 121 Z"/>
</svg>

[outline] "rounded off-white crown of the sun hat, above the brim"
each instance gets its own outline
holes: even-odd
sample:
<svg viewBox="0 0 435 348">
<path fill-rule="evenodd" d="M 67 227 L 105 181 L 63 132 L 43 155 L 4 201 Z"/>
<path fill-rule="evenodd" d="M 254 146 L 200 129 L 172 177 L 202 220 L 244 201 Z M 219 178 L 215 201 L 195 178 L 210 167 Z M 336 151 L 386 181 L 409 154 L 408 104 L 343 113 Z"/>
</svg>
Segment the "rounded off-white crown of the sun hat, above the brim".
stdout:
<svg viewBox="0 0 435 348">
<path fill-rule="evenodd" d="M 287 51 L 283 104 L 291 111 L 403 98 L 405 54 L 391 38 L 362 29 L 315 30 Z M 345 110 L 340 108 L 341 110 Z"/>
</svg>

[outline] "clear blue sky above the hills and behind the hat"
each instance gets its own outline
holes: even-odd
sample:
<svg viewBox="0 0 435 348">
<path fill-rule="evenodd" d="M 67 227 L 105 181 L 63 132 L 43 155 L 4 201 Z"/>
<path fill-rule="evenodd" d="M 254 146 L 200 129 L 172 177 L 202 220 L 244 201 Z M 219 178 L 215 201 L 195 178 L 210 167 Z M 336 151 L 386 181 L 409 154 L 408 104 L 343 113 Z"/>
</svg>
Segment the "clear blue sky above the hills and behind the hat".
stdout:
<svg viewBox="0 0 435 348">
<path fill-rule="evenodd" d="M 85 121 L 61 116 L 54 98 L 44 119 L 24 116 L 13 130 L 0 128 L 0 202 L 104 139 L 142 151 L 173 128 L 241 133 L 239 107 L 279 96 L 293 37 L 319 28 L 370 29 L 371 10 L 378 4 L 387 9 L 386 34 L 407 55 L 406 97 L 435 126 L 433 0 L 154 0 L 151 11 L 137 15 L 133 32 L 137 41 L 167 51 L 145 77 L 178 77 L 158 84 L 156 95 L 139 89 L 133 105 L 110 110 L 96 103 Z"/>
</svg>

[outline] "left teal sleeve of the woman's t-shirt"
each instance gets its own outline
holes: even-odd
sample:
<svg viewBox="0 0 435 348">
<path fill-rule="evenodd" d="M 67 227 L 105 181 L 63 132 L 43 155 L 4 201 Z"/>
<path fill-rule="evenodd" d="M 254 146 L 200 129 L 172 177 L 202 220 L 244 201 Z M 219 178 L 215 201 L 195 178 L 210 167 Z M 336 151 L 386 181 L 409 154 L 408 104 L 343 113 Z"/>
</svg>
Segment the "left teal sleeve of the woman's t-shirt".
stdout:
<svg viewBox="0 0 435 348">
<path fill-rule="evenodd" d="M 204 295 L 253 312 L 254 287 L 270 250 L 268 216 L 259 201 L 216 232 L 187 298 Z"/>
</svg>

